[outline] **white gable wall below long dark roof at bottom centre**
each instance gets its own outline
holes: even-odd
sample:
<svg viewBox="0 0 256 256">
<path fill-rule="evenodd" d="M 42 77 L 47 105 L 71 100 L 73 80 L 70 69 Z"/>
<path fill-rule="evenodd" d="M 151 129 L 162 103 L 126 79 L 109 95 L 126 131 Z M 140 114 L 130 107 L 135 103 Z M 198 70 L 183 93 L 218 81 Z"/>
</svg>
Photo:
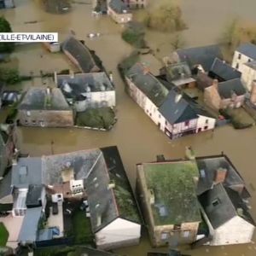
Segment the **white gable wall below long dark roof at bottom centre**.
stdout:
<svg viewBox="0 0 256 256">
<path fill-rule="evenodd" d="M 141 225 L 125 220 L 123 218 L 116 218 L 111 224 L 96 233 L 97 247 L 116 247 L 120 243 L 130 240 L 138 240 L 141 237 Z"/>
</svg>

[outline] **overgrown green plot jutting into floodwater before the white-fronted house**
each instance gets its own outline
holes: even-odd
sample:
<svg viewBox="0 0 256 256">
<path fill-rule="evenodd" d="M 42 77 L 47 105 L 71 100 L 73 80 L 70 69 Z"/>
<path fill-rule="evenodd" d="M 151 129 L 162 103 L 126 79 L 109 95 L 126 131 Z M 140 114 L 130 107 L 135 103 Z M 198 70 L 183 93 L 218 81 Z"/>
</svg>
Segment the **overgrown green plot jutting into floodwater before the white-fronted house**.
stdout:
<svg viewBox="0 0 256 256">
<path fill-rule="evenodd" d="M 115 114 L 111 108 L 87 109 L 78 113 L 76 125 L 92 128 L 110 129 L 115 122 Z"/>
</svg>

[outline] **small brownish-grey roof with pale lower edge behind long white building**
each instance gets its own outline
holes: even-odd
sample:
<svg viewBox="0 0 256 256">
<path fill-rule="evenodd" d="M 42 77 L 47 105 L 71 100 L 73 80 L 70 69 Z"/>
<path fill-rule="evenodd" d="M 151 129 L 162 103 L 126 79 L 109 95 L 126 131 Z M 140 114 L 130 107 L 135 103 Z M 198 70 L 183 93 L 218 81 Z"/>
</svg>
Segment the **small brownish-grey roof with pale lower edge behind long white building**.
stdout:
<svg viewBox="0 0 256 256">
<path fill-rule="evenodd" d="M 166 67 L 166 79 L 176 86 L 194 82 L 187 62 L 180 62 Z"/>
</svg>

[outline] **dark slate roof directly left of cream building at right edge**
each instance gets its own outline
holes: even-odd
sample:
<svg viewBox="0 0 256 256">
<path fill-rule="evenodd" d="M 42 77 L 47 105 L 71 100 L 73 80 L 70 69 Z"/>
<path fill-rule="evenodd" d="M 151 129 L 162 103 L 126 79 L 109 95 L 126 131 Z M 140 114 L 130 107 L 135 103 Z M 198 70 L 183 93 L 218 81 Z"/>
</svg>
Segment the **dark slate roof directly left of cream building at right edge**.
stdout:
<svg viewBox="0 0 256 256">
<path fill-rule="evenodd" d="M 221 61 L 218 58 L 215 58 L 215 60 L 213 61 L 212 67 L 209 72 L 209 76 L 212 77 L 212 79 L 215 79 L 215 75 L 225 81 L 241 78 L 241 72 L 237 71 L 236 68 L 231 67 L 229 64 Z"/>
</svg>

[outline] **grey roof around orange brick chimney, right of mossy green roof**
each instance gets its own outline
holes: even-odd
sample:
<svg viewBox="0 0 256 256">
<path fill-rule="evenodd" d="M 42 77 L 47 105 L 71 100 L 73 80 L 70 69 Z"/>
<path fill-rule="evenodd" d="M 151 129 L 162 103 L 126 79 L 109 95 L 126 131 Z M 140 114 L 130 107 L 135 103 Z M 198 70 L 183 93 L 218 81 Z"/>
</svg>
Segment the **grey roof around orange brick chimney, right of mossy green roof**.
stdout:
<svg viewBox="0 0 256 256">
<path fill-rule="evenodd" d="M 198 195 L 212 188 L 215 172 L 218 168 L 227 169 L 227 175 L 224 180 L 225 187 L 245 184 L 239 172 L 236 170 L 236 167 L 232 165 L 225 155 L 197 157 L 196 163 L 201 174 L 197 186 Z"/>
</svg>

